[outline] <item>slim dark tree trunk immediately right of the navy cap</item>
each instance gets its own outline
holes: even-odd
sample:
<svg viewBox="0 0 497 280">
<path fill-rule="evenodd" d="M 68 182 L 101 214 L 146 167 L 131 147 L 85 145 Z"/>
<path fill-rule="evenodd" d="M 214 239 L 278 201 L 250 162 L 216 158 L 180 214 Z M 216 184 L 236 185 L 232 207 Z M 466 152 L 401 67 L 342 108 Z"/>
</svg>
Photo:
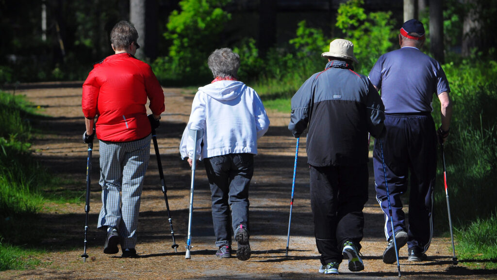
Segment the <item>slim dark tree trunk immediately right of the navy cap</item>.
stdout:
<svg viewBox="0 0 497 280">
<path fill-rule="evenodd" d="M 442 0 L 430 0 L 430 52 L 439 63 L 444 63 Z"/>
</svg>

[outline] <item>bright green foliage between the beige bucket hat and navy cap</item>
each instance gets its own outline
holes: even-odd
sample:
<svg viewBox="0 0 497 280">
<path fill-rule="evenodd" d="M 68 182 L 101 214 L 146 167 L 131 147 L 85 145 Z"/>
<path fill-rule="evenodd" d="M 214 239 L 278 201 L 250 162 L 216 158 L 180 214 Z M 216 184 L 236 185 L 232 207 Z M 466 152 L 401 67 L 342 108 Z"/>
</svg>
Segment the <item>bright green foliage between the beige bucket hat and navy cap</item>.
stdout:
<svg viewBox="0 0 497 280">
<path fill-rule="evenodd" d="M 354 55 L 359 61 L 356 71 L 365 75 L 376 60 L 394 46 L 397 31 L 392 12 L 366 13 L 363 0 L 340 3 L 336 16 L 336 27 L 354 44 Z"/>
</svg>

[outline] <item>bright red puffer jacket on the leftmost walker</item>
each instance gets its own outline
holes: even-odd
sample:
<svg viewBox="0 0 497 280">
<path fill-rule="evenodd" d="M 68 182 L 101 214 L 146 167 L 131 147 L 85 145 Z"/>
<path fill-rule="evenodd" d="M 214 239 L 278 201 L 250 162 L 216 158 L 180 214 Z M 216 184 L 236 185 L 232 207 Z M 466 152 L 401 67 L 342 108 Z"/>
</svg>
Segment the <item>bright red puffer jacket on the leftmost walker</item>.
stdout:
<svg viewBox="0 0 497 280">
<path fill-rule="evenodd" d="M 149 108 L 155 115 L 165 110 L 164 92 L 151 67 L 131 54 L 109 56 L 93 66 L 83 84 L 84 117 L 96 122 L 99 140 L 125 142 L 145 138 L 152 128 Z"/>
</svg>

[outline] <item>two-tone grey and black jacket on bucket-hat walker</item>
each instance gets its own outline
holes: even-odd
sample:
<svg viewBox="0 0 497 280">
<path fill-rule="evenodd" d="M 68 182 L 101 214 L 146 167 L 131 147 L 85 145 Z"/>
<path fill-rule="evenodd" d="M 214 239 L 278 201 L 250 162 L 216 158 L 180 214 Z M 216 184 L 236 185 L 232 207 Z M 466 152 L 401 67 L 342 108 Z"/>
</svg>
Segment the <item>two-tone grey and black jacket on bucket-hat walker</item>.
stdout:
<svg viewBox="0 0 497 280">
<path fill-rule="evenodd" d="M 342 61 L 312 75 L 292 97 L 288 129 L 300 137 L 309 124 L 308 163 L 354 166 L 368 162 L 368 132 L 380 137 L 385 107 L 365 75 Z"/>
</svg>

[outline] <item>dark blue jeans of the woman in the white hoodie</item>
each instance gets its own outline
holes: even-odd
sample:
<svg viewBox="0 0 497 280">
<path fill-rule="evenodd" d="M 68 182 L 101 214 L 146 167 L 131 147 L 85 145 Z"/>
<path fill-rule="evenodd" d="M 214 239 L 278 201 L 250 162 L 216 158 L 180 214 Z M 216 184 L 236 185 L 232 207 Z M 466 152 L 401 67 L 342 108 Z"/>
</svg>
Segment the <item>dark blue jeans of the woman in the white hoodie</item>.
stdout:
<svg viewBox="0 0 497 280">
<path fill-rule="evenodd" d="M 248 187 L 253 175 L 253 154 L 213 156 L 204 159 L 204 165 L 211 188 L 216 246 L 231 245 L 232 233 L 236 234 L 237 227 L 242 224 L 250 230 Z"/>
</svg>

